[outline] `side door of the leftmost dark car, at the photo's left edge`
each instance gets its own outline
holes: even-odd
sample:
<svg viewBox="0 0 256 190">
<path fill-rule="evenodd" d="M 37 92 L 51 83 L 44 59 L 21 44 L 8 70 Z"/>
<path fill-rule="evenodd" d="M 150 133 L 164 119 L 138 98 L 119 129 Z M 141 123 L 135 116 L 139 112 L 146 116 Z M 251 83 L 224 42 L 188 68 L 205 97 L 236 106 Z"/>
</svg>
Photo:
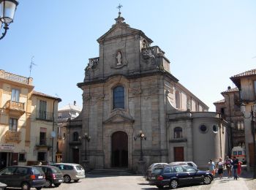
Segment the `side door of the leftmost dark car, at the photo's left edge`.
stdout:
<svg viewBox="0 0 256 190">
<path fill-rule="evenodd" d="M 16 167 L 6 167 L 4 170 L 1 170 L 0 182 L 7 184 L 7 186 L 14 187 L 13 182 L 15 180 L 15 170 Z"/>
</svg>

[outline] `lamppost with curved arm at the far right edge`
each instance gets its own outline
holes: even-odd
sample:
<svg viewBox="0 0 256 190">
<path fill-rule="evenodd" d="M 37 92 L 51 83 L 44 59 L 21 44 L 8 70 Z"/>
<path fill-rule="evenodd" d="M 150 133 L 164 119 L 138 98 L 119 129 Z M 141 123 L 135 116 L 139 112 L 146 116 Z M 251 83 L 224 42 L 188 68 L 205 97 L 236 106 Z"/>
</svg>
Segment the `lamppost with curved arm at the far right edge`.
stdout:
<svg viewBox="0 0 256 190">
<path fill-rule="evenodd" d="M 241 103 L 241 112 L 245 113 L 245 104 Z M 256 143 L 255 143 L 255 113 L 256 113 L 256 101 L 251 106 L 251 112 L 249 117 L 244 115 L 244 118 L 251 118 L 251 129 L 252 129 L 252 142 L 253 142 L 253 151 L 254 151 L 254 163 L 253 163 L 253 178 L 256 178 Z"/>
</svg>

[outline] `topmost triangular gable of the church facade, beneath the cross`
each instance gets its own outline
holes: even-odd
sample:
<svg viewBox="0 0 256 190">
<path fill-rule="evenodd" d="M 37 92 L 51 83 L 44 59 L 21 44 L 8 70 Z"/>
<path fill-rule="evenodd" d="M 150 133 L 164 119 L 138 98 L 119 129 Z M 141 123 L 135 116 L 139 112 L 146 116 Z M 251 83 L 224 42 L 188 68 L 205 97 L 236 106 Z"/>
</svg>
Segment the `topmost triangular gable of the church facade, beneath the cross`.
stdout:
<svg viewBox="0 0 256 190">
<path fill-rule="evenodd" d="M 130 35 L 130 34 L 140 34 L 141 36 L 143 36 L 144 38 L 146 38 L 148 40 L 149 43 L 152 43 L 152 39 L 148 38 L 144 33 L 143 31 L 141 30 L 138 30 L 138 29 L 135 29 L 135 28 L 131 28 L 129 27 L 129 24 L 125 23 L 124 22 L 124 18 L 121 17 L 121 12 L 118 12 L 118 18 L 115 19 L 116 20 L 116 24 L 113 24 L 113 26 L 109 29 L 109 31 L 107 31 L 105 34 L 103 34 L 101 37 L 99 37 L 97 39 L 97 42 L 101 42 L 103 40 L 108 40 L 108 39 L 112 39 L 114 37 L 108 37 L 108 35 L 113 32 L 116 28 L 118 27 L 125 27 L 127 28 L 127 31 L 129 31 L 129 34 L 122 34 L 120 35 L 119 37 L 122 37 L 122 36 L 127 36 L 127 35 Z M 116 37 L 115 37 L 116 38 Z"/>
</svg>

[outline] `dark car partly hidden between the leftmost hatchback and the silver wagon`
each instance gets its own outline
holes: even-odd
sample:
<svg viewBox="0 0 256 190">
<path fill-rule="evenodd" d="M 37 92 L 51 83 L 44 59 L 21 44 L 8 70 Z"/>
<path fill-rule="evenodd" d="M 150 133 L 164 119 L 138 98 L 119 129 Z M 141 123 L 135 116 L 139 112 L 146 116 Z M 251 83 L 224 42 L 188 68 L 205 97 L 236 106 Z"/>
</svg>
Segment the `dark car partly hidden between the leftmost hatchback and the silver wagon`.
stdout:
<svg viewBox="0 0 256 190">
<path fill-rule="evenodd" d="M 39 167 L 45 173 L 45 187 L 60 186 L 63 182 L 63 175 L 61 170 L 58 167 L 49 166 L 49 165 L 37 165 L 34 167 Z"/>
</svg>

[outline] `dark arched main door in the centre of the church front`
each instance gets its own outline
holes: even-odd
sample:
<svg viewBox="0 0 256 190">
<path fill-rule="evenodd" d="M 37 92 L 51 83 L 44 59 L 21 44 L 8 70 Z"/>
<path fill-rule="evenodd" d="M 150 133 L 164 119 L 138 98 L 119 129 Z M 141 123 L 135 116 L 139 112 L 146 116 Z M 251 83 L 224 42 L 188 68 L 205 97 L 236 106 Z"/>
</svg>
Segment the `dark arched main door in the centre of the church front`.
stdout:
<svg viewBox="0 0 256 190">
<path fill-rule="evenodd" d="M 125 132 L 112 135 L 112 167 L 128 167 L 128 136 Z"/>
</svg>

